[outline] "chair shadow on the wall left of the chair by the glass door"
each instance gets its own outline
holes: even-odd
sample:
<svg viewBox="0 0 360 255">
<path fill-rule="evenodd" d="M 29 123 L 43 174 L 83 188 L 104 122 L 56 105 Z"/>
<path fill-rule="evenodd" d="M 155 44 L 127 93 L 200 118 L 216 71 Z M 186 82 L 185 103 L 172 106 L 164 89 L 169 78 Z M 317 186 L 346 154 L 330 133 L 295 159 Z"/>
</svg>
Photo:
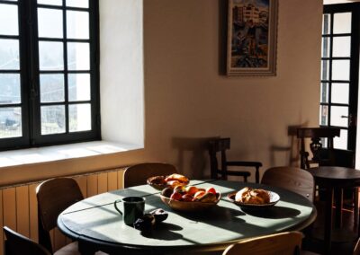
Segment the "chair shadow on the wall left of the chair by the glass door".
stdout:
<svg viewBox="0 0 360 255">
<path fill-rule="evenodd" d="M 303 124 L 293 125 L 287 128 L 287 136 L 289 137 L 287 146 L 270 146 L 270 164 L 272 166 L 300 166 L 300 139 L 297 137 L 297 130 L 298 128 L 307 127 L 307 125 L 308 123 L 305 122 Z"/>
</svg>

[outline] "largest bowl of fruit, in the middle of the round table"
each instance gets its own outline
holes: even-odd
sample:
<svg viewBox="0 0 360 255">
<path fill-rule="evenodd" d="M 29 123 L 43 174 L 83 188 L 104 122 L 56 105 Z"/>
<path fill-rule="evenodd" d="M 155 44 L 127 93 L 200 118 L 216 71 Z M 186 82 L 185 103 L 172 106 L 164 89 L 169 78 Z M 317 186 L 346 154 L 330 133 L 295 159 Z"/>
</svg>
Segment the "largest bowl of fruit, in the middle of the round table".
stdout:
<svg viewBox="0 0 360 255">
<path fill-rule="evenodd" d="M 220 192 L 214 188 L 201 189 L 195 186 L 175 186 L 163 189 L 161 200 L 174 210 L 195 212 L 216 206 L 220 201 Z"/>
</svg>

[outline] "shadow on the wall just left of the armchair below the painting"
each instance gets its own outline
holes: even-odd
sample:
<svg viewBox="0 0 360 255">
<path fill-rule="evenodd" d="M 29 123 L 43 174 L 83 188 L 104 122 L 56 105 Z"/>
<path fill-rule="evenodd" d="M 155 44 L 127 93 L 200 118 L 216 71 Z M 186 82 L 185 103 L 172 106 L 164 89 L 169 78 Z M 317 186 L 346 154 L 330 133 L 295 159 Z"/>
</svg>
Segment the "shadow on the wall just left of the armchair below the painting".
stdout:
<svg viewBox="0 0 360 255">
<path fill-rule="evenodd" d="M 210 158 L 208 153 L 208 142 L 212 137 L 174 137 L 172 146 L 178 151 L 178 170 L 191 179 L 210 178 Z"/>
</svg>

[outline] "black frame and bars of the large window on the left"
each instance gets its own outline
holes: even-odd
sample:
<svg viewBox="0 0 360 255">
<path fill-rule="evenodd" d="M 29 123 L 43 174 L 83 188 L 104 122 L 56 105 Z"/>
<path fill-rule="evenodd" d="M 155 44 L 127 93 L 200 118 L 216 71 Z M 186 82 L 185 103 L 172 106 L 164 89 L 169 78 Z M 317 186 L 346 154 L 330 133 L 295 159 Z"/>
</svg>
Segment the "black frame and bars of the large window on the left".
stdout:
<svg viewBox="0 0 360 255">
<path fill-rule="evenodd" d="M 0 39 L 19 39 L 19 58 L 21 76 L 21 103 L 2 104 L 4 106 L 22 107 L 22 128 L 23 136 L 0 138 L 0 150 L 39 147 L 44 145 L 63 145 L 85 141 L 101 139 L 100 126 L 100 67 L 99 67 L 99 0 L 89 0 L 88 8 L 66 6 L 66 0 L 62 0 L 62 5 L 37 4 L 37 0 L 18 0 L 8 2 L 0 0 L 0 4 L 18 5 L 19 17 L 19 36 L 0 35 Z M 47 9 L 61 10 L 63 13 L 63 38 L 39 38 L 37 12 L 38 7 Z M 67 11 L 81 11 L 89 13 L 89 39 L 76 40 L 67 39 Z M 39 68 L 39 41 L 61 41 L 64 46 L 64 70 L 40 71 Z M 88 42 L 90 53 L 90 70 L 73 71 L 67 70 L 67 43 L 68 42 Z M 19 73 L 14 70 L 0 70 L 0 73 Z M 40 74 L 64 74 L 64 96 L 63 102 L 40 102 Z M 68 101 L 67 94 L 67 75 L 68 74 L 90 74 L 90 101 Z M 68 106 L 73 104 L 91 104 L 91 130 L 69 132 Z M 41 135 L 40 127 L 40 106 L 41 105 L 64 105 L 65 106 L 65 133 Z"/>
</svg>

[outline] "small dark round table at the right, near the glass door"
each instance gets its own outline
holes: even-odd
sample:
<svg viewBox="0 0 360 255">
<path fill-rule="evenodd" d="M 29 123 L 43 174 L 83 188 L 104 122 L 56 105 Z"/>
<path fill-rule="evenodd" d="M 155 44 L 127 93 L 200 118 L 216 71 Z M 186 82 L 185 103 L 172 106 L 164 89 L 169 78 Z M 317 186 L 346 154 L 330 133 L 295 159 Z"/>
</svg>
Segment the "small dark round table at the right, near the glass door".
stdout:
<svg viewBox="0 0 360 255">
<path fill-rule="evenodd" d="M 341 190 L 344 188 L 355 188 L 360 186 L 360 171 L 338 166 L 320 166 L 308 169 L 315 179 L 315 183 L 326 189 L 325 200 L 325 229 L 324 229 L 324 252 L 329 254 L 331 251 L 331 232 L 332 232 L 332 205 L 334 190 L 340 192 L 337 199 L 337 221 L 341 217 Z M 356 205 L 357 207 L 357 205 Z"/>
</svg>

